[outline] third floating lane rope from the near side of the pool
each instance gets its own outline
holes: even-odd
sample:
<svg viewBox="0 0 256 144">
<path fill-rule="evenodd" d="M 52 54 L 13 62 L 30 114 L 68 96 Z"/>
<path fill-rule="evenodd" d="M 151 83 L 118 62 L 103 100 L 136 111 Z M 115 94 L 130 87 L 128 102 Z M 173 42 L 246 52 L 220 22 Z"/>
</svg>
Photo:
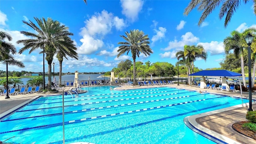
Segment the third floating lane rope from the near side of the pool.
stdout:
<svg viewBox="0 0 256 144">
<path fill-rule="evenodd" d="M 160 94 L 160 95 L 154 95 L 154 96 L 142 96 L 142 97 L 137 97 L 137 98 L 126 98 L 126 99 L 119 99 L 116 101 L 120 101 L 120 100 L 132 100 L 132 99 L 138 99 L 138 98 L 151 98 L 151 97 L 156 97 L 156 96 L 168 96 L 168 95 L 174 95 L 174 94 L 184 94 L 184 93 L 188 93 L 188 92 L 180 92 L 180 93 L 171 93 L 171 94 Z M 124 95 L 124 96 L 128 96 L 128 95 Z M 80 105 L 85 105 L 85 104 L 98 104 L 98 103 L 104 103 L 104 102 L 116 102 L 114 100 L 107 100 L 107 101 L 101 101 L 101 102 L 88 102 L 88 103 L 83 103 L 83 104 L 70 104 L 70 105 L 66 105 L 66 106 L 80 106 Z M 66 101 L 65 101 L 66 102 Z M 39 104 L 33 104 L 33 105 L 39 105 Z M 32 105 L 29 105 L 32 106 Z M 66 107 L 65 106 L 65 107 Z M 49 107 L 49 108 L 60 108 L 62 106 L 54 106 L 54 107 Z M 38 108 L 38 109 L 32 109 L 32 110 L 42 110 L 42 109 L 48 109 L 48 108 Z M 19 110 L 17 112 L 26 112 L 26 111 L 30 111 L 30 110 Z"/>
</svg>

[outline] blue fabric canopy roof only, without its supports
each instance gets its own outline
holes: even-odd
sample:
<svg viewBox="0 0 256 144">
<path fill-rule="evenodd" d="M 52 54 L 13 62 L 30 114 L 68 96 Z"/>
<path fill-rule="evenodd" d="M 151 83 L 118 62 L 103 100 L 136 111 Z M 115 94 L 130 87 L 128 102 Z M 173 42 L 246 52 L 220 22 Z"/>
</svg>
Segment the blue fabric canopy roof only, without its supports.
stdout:
<svg viewBox="0 0 256 144">
<path fill-rule="evenodd" d="M 231 72 L 229 70 L 202 70 L 190 76 L 242 76 L 242 74 Z"/>
</svg>

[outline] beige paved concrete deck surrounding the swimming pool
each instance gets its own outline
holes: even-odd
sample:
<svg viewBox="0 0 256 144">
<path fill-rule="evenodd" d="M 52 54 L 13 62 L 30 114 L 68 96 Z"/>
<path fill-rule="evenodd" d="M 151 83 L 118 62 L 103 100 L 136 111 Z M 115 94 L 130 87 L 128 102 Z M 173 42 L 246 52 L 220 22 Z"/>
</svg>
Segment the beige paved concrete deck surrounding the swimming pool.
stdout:
<svg viewBox="0 0 256 144">
<path fill-rule="evenodd" d="M 160 87 L 160 86 L 140 86 L 140 87 L 132 87 L 127 86 L 125 84 L 121 84 L 122 87 L 117 89 L 134 89 L 134 88 L 150 88 L 150 87 Z M 184 88 L 189 90 L 201 90 L 202 92 L 210 92 L 215 94 L 222 94 L 227 96 L 234 96 L 234 97 L 241 97 L 240 92 L 225 92 L 219 90 L 212 90 L 212 89 L 202 89 L 196 87 L 190 87 L 187 85 L 180 84 L 168 84 L 168 85 L 161 85 L 161 86 L 171 86 L 175 88 Z M 64 91 L 70 90 L 70 87 L 64 88 Z M 5 96 L 0 96 L 0 118 L 6 114 L 11 114 L 13 111 L 18 109 L 20 106 L 27 104 L 29 101 L 38 98 L 38 96 L 45 96 L 45 95 L 54 95 L 54 94 L 62 94 L 62 92 L 53 93 L 53 94 L 42 94 L 42 93 L 34 93 L 34 94 L 24 94 L 24 95 L 13 95 L 10 96 L 9 99 L 4 99 Z M 248 96 L 248 93 L 242 94 L 244 98 Z M 256 95 L 252 94 L 252 99 L 256 99 Z M 252 102 L 252 107 L 256 110 L 256 103 Z M 206 112 L 202 114 L 197 114 L 190 116 L 189 122 L 198 130 L 201 130 L 207 134 L 211 134 L 213 137 L 216 138 L 226 138 L 227 143 L 232 144 L 255 144 L 256 140 L 253 138 L 246 137 L 235 130 L 232 129 L 232 124 L 239 121 L 247 121 L 246 119 L 246 112 L 248 110 L 248 104 L 242 104 L 239 106 L 224 108 L 220 110 L 215 110 L 211 112 Z M 225 142 L 225 141 L 224 141 Z"/>
</svg>

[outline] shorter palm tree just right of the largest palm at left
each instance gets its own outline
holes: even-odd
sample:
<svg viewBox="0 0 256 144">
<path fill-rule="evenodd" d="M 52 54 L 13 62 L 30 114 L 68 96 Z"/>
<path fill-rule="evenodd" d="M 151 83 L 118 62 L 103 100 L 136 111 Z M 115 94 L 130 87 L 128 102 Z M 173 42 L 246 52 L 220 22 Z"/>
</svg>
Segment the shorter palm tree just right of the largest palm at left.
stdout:
<svg viewBox="0 0 256 144">
<path fill-rule="evenodd" d="M 76 60 L 78 60 L 78 54 L 75 51 L 77 48 L 74 45 L 74 42 L 71 40 L 70 37 L 66 36 L 65 37 L 65 42 L 69 42 L 68 44 L 70 44 L 70 46 L 67 46 L 65 48 L 63 47 L 59 47 L 58 48 L 58 52 L 56 55 L 56 58 L 58 58 L 59 60 L 59 64 L 60 64 L 60 72 L 59 72 L 59 85 L 61 85 L 61 77 L 62 77 L 62 62 L 63 62 L 63 57 L 66 58 L 68 60 L 68 58 L 66 57 L 66 55 L 70 56 L 71 58 L 75 58 Z"/>
</svg>

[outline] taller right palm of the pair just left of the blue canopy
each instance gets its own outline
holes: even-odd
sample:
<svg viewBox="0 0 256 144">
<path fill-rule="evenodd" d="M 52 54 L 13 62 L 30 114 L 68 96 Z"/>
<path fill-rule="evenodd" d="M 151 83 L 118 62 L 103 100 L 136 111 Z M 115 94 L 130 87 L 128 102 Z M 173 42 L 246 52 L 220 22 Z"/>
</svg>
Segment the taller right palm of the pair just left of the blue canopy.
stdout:
<svg viewBox="0 0 256 144">
<path fill-rule="evenodd" d="M 198 46 L 185 45 L 184 46 L 184 56 L 188 59 L 188 62 L 191 63 L 192 74 L 194 73 L 194 61 L 196 60 L 196 58 L 202 58 L 205 61 L 207 59 L 207 53 L 204 50 L 204 47 L 200 44 Z M 189 71 L 189 74 L 190 74 L 190 71 Z M 193 76 L 192 76 L 192 81 L 193 81 Z M 189 83 L 189 84 L 191 84 L 191 83 Z"/>
</svg>

